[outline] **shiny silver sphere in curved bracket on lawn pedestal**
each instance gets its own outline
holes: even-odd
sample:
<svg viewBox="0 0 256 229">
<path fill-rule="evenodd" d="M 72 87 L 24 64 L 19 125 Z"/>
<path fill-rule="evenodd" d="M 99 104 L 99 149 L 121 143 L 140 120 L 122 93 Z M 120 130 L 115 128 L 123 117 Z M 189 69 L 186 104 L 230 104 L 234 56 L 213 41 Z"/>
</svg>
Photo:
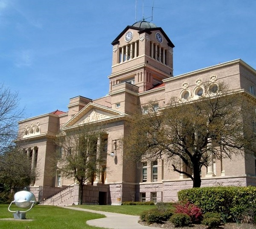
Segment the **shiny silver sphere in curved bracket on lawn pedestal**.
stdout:
<svg viewBox="0 0 256 229">
<path fill-rule="evenodd" d="M 15 205 L 19 208 L 28 208 L 28 210 L 26 211 L 12 211 L 10 210 L 10 207 L 12 205 L 12 203 L 15 203 Z M 14 218 L 15 219 L 25 219 L 26 218 L 26 213 L 25 212 L 28 212 L 29 210 L 32 209 L 32 207 L 34 207 L 36 204 L 36 201 L 35 201 L 35 195 L 30 192 L 30 191 L 18 191 L 15 193 L 14 195 L 14 200 L 10 203 L 9 207 L 8 207 L 8 211 L 9 212 L 15 212 L 13 214 Z"/>
</svg>

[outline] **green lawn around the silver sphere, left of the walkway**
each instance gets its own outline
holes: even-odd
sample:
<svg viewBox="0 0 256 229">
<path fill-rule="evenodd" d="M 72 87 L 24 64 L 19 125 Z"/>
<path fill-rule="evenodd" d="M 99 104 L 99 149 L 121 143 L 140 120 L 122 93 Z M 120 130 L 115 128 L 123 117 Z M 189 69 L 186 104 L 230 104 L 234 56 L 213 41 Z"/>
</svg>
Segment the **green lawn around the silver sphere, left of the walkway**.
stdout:
<svg viewBox="0 0 256 229">
<path fill-rule="evenodd" d="M 8 211 L 8 206 L 0 204 L 0 218 L 13 218 L 13 213 Z M 11 210 L 17 210 L 15 205 L 12 205 Z M 34 219 L 33 221 L 0 220 L 0 229 L 102 229 L 86 224 L 87 220 L 102 217 L 104 216 L 90 212 L 36 205 L 26 213 L 26 218 Z"/>
</svg>

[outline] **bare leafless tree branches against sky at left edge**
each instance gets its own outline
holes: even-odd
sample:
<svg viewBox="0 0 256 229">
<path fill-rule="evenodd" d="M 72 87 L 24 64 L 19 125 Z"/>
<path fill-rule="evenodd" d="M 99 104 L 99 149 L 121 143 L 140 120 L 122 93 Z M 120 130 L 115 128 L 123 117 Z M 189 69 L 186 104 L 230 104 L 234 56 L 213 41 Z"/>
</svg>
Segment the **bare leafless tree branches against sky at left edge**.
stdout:
<svg viewBox="0 0 256 229">
<path fill-rule="evenodd" d="M 2 84 L 0 86 L 0 154 L 17 138 L 17 122 L 23 117 L 23 110 L 18 106 L 18 93 L 12 93 Z"/>
</svg>

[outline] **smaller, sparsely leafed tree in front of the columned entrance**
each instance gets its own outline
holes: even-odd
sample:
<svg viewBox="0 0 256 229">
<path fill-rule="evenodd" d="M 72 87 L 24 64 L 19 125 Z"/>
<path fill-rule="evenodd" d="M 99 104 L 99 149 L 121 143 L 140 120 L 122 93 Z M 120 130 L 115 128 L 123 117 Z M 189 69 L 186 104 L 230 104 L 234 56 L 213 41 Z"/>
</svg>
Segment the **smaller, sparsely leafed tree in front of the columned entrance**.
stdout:
<svg viewBox="0 0 256 229">
<path fill-rule="evenodd" d="M 101 144 L 97 144 L 102 139 Z M 79 204 L 82 204 L 83 189 L 87 182 L 92 182 L 101 172 L 101 165 L 106 154 L 103 132 L 95 125 L 85 124 L 77 130 L 67 131 L 58 136 L 56 144 L 57 171 L 68 179 L 75 179 L 79 184 Z M 106 152 L 105 152 L 106 153 Z"/>
</svg>

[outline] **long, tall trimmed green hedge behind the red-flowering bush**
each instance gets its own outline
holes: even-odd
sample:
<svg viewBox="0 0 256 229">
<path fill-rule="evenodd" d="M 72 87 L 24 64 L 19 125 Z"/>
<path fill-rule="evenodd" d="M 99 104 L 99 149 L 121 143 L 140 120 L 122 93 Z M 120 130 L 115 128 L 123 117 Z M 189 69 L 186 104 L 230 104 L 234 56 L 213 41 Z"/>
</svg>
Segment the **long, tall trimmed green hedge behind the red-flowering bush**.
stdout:
<svg viewBox="0 0 256 229">
<path fill-rule="evenodd" d="M 188 201 L 203 212 L 218 212 L 221 215 L 241 214 L 247 209 L 256 209 L 256 187 L 218 186 L 190 188 L 178 192 L 179 201 Z"/>
</svg>

